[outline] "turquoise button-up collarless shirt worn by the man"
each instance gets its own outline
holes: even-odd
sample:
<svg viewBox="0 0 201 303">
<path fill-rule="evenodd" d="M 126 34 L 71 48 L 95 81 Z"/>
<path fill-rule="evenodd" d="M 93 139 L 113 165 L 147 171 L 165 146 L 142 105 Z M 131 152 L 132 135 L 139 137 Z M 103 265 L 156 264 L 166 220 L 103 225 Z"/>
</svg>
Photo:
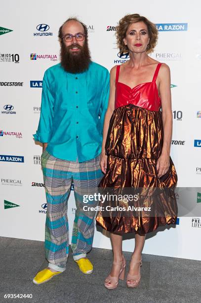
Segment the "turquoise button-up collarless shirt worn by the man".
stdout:
<svg viewBox="0 0 201 303">
<path fill-rule="evenodd" d="M 95 62 L 79 74 L 66 72 L 60 63 L 48 68 L 34 139 L 48 143 L 47 152 L 60 159 L 83 162 L 99 155 L 109 78 L 108 70 Z"/>
</svg>

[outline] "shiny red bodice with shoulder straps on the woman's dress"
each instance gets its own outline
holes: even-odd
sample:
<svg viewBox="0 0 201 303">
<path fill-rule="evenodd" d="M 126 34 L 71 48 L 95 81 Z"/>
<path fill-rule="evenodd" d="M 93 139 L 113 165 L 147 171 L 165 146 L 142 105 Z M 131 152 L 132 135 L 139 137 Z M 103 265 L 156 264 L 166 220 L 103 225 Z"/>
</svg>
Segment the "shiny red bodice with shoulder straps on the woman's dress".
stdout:
<svg viewBox="0 0 201 303">
<path fill-rule="evenodd" d="M 127 104 L 133 104 L 148 110 L 159 111 L 161 98 L 156 84 L 156 79 L 162 63 L 157 65 L 152 82 L 144 82 L 130 88 L 128 85 L 118 82 L 120 66 L 117 66 L 116 74 L 116 98 L 115 108 Z"/>
</svg>

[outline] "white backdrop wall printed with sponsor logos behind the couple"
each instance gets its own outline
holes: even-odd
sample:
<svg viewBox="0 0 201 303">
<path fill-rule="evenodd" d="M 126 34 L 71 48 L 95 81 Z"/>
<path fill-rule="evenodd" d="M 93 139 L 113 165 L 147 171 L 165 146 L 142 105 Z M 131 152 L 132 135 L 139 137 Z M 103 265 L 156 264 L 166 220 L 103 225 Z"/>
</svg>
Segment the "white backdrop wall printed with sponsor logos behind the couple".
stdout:
<svg viewBox="0 0 201 303">
<path fill-rule="evenodd" d="M 35 143 L 44 71 L 59 63 L 58 29 L 70 16 L 88 28 L 93 61 L 109 70 L 129 58 L 116 46 L 118 21 L 139 13 L 157 24 L 151 56 L 169 65 L 173 135 L 171 156 L 178 173 L 176 226 L 148 234 L 143 253 L 201 259 L 201 4 L 174 1 L 7 0 L 0 11 L 0 236 L 44 241 L 45 190 Z M 70 232 L 75 214 L 68 201 Z M 96 230 L 94 247 L 111 249 L 108 234 Z M 133 235 L 123 241 L 132 251 Z"/>
</svg>

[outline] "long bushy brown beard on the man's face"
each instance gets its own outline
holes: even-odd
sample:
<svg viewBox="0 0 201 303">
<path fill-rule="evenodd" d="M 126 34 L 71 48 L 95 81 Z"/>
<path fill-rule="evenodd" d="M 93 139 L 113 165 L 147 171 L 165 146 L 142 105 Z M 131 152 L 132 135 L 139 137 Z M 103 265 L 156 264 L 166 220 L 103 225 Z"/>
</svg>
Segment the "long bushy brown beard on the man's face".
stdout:
<svg viewBox="0 0 201 303">
<path fill-rule="evenodd" d="M 72 47 L 77 47 L 80 49 L 80 51 L 72 53 L 70 50 Z M 65 71 L 72 74 L 86 71 L 89 67 L 89 63 L 91 62 L 87 41 L 85 41 L 83 47 L 81 47 L 79 44 L 66 47 L 65 44 L 62 43 L 60 57 L 61 66 Z"/>
</svg>

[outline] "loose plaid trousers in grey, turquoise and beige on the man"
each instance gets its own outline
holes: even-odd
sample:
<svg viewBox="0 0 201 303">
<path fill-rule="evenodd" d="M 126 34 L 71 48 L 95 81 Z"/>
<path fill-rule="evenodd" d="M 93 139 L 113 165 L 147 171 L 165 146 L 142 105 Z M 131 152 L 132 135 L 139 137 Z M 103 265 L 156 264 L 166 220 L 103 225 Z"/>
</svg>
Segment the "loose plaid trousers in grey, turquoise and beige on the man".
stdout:
<svg viewBox="0 0 201 303">
<path fill-rule="evenodd" d="M 100 156 L 85 162 L 55 158 L 47 151 L 41 155 L 41 165 L 47 199 L 45 223 L 45 256 L 48 267 L 64 271 L 69 253 L 67 202 L 74 183 L 76 214 L 73 225 L 71 250 L 74 260 L 86 256 L 92 248 L 95 211 L 82 207 L 96 206 L 98 201 L 83 202 L 83 195 L 93 195 L 103 174 Z"/>
</svg>

